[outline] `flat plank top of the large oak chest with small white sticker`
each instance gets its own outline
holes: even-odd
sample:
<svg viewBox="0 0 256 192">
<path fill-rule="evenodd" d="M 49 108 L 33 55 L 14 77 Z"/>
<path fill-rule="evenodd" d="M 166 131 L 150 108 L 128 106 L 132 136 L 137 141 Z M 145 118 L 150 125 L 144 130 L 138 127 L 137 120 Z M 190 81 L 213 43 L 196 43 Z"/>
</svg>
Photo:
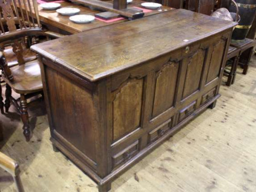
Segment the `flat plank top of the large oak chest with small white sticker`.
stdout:
<svg viewBox="0 0 256 192">
<path fill-rule="evenodd" d="M 31 49 L 97 81 L 235 25 L 179 9 L 54 39 Z"/>
</svg>

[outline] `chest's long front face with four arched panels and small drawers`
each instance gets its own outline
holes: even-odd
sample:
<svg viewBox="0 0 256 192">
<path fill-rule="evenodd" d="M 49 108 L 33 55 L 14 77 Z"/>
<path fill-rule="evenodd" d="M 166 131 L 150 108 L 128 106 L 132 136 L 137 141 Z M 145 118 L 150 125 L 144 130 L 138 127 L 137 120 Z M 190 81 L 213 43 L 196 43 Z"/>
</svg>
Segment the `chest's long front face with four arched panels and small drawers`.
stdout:
<svg viewBox="0 0 256 192">
<path fill-rule="evenodd" d="M 219 97 L 228 37 L 229 32 L 219 34 L 108 79 L 110 170 Z"/>
</svg>

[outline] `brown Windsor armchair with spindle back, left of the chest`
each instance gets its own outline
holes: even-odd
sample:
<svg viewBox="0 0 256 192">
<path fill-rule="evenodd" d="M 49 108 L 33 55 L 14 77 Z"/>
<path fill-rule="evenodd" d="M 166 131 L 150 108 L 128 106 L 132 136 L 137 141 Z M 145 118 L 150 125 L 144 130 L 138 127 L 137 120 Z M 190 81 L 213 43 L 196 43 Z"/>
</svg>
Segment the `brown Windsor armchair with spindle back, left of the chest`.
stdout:
<svg viewBox="0 0 256 192">
<path fill-rule="evenodd" d="M 17 6 L 18 5 L 18 6 Z M 25 7 L 22 11 L 21 7 Z M 12 51 L 18 61 L 18 66 L 10 68 L 5 59 L 4 50 L 0 50 L 0 66 L 2 67 L 2 76 L 6 82 L 5 103 L 3 105 L 2 94 L 0 97 L 1 113 L 8 113 L 11 102 L 18 109 L 23 122 L 23 134 L 26 140 L 30 139 L 30 126 L 28 116 L 27 99 L 35 94 L 42 94 L 42 80 L 37 60 L 26 62 L 23 58 L 23 41 L 24 37 L 45 36 L 47 38 L 58 38 L 61 35 L 43 31 L 37 9 L 36 0 L 1 0 L 1 18 L 0 27 L 0 44 L 12 45 Z M 34 13 L 34 14 L 33 14 Z M 3 21 L 6 21 L 8 32 L 4 32 Z M 19 28 L 15 25 L 18 22 Z M 19 100 L 12 97 L 12 90 L 20 94 Z M 2 93 L 2 90 L 0 90 Z"/>
</svg>

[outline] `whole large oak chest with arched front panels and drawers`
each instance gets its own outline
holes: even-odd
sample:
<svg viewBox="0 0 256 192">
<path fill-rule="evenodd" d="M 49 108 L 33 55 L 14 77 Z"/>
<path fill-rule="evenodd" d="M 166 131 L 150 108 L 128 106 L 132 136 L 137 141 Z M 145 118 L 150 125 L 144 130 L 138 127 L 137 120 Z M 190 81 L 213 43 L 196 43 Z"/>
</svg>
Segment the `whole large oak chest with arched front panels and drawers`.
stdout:
<svg viewBox="0 0 256 192">
<path fill-rule="evenodd" d="M 235 24 L 180 9 L 32 46 L 54 148 L 109 190 L 214 107 Z"/>
</svg>

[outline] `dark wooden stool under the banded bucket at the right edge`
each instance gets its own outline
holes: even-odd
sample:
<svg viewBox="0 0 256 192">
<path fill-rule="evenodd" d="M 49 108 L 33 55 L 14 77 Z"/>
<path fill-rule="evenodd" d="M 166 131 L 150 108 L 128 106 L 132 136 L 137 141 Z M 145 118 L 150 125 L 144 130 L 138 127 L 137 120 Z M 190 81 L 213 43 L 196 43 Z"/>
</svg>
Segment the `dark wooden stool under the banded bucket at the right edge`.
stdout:
<svg viewBox="0 0 256 192">
<path fill-rule="evenodd" d="M 252 57 L 256 41 L 253 39 L 245 38 L 242 41 L 231 41 L 231 46 L 240 49 L 238 65 L 243 67 L 243 74 L 246 75 L 248 71 L 249 62 Z"/>
</svg>

